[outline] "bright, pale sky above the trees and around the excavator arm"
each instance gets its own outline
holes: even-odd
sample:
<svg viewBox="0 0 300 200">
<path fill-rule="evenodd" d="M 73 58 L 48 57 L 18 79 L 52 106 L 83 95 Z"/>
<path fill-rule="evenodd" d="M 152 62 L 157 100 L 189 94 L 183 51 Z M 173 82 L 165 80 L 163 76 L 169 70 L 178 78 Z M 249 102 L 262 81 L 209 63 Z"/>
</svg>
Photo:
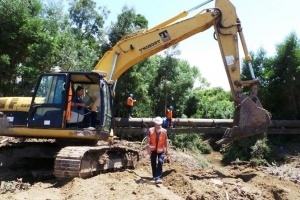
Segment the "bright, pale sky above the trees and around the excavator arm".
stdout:
<svg viewBox="0 0 300 200">
<path fill-rule="evenodd" d="M 143 15 L 152 28 L 177 14 L 188 11 L 206 0 L 98 0 L 99 6 L 107 6 L 111 11 L 108 21 L 116 22 L 124 5 L 133 7 L 136 14 Z M 284 42 L 292 32 L 300 37 L 299 0 L 231 0 L 241 20 L 243 33 L 249 51 L 256 53 L 260 48 L 274 56 L 276 45 Z M 214 7 L 212 1 L 191 12 L 192 17 L 205 8 Z M 179 43 L 181 55 L 190 65 L 199 68 L 202 77 L 211 87 L 229 90 L 229 83 L 222 62 L 219 46 L 213 39 L 213 27 Z M 240 57 L 244 58 L 240 45 Z M 197 85 L 197 83 L 196 83 Z"/>
</svg>

